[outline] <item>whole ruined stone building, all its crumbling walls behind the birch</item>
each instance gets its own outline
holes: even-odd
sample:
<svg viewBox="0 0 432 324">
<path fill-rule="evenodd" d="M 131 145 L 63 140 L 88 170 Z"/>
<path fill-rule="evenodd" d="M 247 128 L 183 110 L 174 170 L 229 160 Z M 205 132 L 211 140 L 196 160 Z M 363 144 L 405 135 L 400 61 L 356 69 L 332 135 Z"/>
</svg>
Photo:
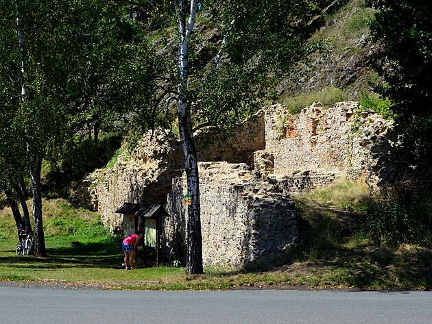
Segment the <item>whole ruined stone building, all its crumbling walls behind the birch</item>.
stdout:
<svg viewBox="0 0 432 324">
<path fill-rule="evenodd" d="M 314 103 L 296 116 L 272 105 L 237 125 L 234 136 L 197 136 L 204 264 L 242 266 L 298 241 L 289 195 L 363 177 L 371 188 L 397 175 L 398 136 L 391 121 L 358 103 Z M 92 200 L 112 232 L 124 202 L 165 204 L 165 260 L 184 260 L 187 222 L 182 153 L 173 134 L 147 134 L 109 170 L 87 179 Z"/>
</svg>

